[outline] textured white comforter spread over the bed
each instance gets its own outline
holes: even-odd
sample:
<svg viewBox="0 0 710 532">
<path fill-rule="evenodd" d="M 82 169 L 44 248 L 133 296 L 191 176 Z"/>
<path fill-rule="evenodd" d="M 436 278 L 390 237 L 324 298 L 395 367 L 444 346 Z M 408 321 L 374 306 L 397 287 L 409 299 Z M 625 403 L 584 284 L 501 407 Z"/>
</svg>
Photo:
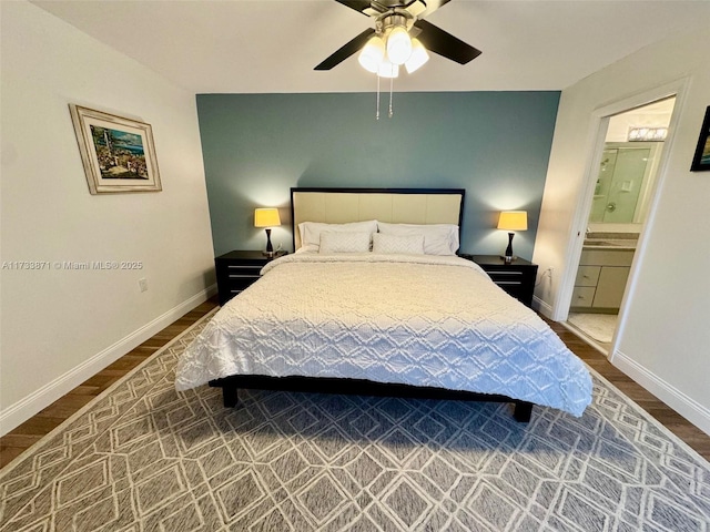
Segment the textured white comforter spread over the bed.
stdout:
<svg viewBox="0 0 710 532">
<path fill-rule="evenodd" d="M 591 400 L 581 360 L 470 260 L 294 254 L 263 274 L 187 347 L 178 390 L 265 375 L 501 393 L 575 416 Z"/>
</svg>

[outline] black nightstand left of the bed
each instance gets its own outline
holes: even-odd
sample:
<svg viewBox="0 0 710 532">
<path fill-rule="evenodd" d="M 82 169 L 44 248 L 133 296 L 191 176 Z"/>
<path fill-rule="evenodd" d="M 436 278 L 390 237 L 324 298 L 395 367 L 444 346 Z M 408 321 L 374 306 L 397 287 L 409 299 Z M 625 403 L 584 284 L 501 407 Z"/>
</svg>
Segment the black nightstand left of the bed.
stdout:
<svg viewBox="0 0 710 532">
<path fill-rule="evenodd" d="M 280 252 L 274 257 L 267 257 L 262 252 L 235 250 L 216 257 L 214 266 L 217 272 L 220 305 L 224 305 L 258 279 L 258 273 L 266 263 L 285 254 L 285 252 Z"/>
</svg>

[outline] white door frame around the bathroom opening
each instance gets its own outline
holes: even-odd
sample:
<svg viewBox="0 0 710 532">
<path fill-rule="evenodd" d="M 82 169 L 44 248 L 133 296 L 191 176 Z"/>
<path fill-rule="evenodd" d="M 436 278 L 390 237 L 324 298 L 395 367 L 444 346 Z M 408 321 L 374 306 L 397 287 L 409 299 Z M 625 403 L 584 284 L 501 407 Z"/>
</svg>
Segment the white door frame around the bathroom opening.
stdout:
<svg viewBox="0 0 710 532">
<path fill-rule="evenodd" d="M 589 213 L 591 212 L 591 203 L 594 196 L 594 190 L 597 182 L 597 174 L 599 164 L 604 155 L 604 145 L 607 136 L 607 130 L 609 127 L 609 120 L 617 114 L 631 111 L 633 109 L 641 108 L 649 103 L 657 102 L 667 98 L 676 96 L 676 104 L 673 105 L 673 112 L 668 125 L 668 136 L 663 143 L 663 150 L 658 163 L 658 174 L 652 185 L 652 190 L 649 196 L 649 208 L 646 221 L 641 225 L 636 253 L 633 254 L 633 260 L 631 263 L 631 269 L 629 272 L 629 278 L 623 290 L 623 297 L 621 299 L 621 306 L 619 308 L 619 317 L 617 321 L 617 328 L 611 340 L 611 346 L 608 352 L 609 360 L 613 360 L 617 345 L 619 339 L 623 335 L 623 328 L 626 326 L 626 307 L 627 301 L 633 297 L 636 291 L 638 273 L 643 264 L 643 256 L 646 246 L 649 239 L 649 235 L 652 232 L 653 223 L 656 219 L 656 209 L 660 198 L 663 183 L 667 177 L 668 157 L 671 153 L 673 140 L 676 137 L 676 130 L 678 121 L 680 120 L 681 110 L 686 102 L 686 93 L 688 91 L 690 79 L 688 76 L 677 79 L 663 85 L 645 90 L 636 94 L 622 98 L 612 103 L 607 103 L 596 108 L 592 111 L 592 127 L 596 129 L 597 134 L 594 135 L 591 142 L 588 144 L 586 153 L 587 165 L 585 167 L 585 178 L 580 187 L 580 194 L 578 195 L 577 207 L 575 208 L 575 216 L 570 226 L 569 241 L 567 246 L 567 260 L 565 264 L 565 275 L 560 279 L 560 287 L 558 291 L 557 305 L 554 311 L 556 320 L 566 321 L 569 315 L 569 307 L 571 306 L 572 291 L 575 289 L 575 279 L 577 278 L 577 270 L 579 268 L 579 260 L 581 259 L 582 245 L 585 242 L 586 229 L 589 221 Z M 594 130 L 592 130 L 594 131 Z"/>
</svg>

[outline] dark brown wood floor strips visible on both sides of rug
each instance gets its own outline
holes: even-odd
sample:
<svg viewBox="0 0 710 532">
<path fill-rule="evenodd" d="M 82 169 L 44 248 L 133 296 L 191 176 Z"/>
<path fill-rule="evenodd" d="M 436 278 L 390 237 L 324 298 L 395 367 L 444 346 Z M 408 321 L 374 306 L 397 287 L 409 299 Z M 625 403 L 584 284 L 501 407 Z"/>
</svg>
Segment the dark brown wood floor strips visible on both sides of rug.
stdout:
<svg viewBox="0 0 710 532">
<path fill-rule="evenodd" d="M 100 371 L 67 396 L 47 407 L 33 418 L 29 419 L 4 437 L 0 438 L 0 468 L 7 466 L 26 449 L 38 442 L 44 434 L 58 427 L 77 410 L 87 405 L 99 393 L 104 391 L 116 380 L 153 355 L 156 350 L 184 331 L 197 319 L 217 306 L 216 297 L 203 303 L 187 313 L 174 324 L 165 327 L 155 336 L 141 344 L 131 352 Z M 653 416 L 674 434 L 710 461 L 710 437 L 688 422 L 680 415 L 671 410 L 663 402 L 656 399 L 625 374 L 611 366 L 607 358 L 589 346 L 574 332 L 560 324 L 549 321 L 550 327 L 590 367 L 601 374 L 607 380 L 635 400 L 647 412 Z"/>
</svg>

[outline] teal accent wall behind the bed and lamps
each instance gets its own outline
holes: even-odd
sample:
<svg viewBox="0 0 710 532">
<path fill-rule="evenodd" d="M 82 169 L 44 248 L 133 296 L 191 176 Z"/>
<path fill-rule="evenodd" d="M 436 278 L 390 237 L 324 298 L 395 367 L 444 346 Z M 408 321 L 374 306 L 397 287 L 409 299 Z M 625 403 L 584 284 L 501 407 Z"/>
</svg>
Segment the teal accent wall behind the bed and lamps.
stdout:
<svg viewBox="0 0 710 532">
<path fill-rule="evenodd" d="M 530 258 L 559 92 L 199 94 L 215 255 L 265 247 L 254 208 L 281 208 L 272 242 L 292 249 L 292 186 L 466 188 L 464 253 L 498 254 L 501 209 L 528 212 L 514 241 Z M 168 188 L 168 183 L 165 188 Z"/>
</svg>

